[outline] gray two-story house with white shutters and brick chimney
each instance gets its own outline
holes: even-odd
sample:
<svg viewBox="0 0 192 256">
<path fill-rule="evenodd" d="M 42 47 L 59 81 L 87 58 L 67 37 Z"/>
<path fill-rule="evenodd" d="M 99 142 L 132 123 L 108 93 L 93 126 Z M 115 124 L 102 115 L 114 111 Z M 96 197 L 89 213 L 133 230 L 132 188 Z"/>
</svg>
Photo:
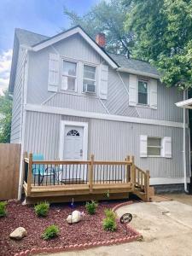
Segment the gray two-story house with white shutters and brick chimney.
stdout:
<svg viewBox="0 0 192 256">
<path fill-rule="evenodd" d="M 79 26 L 52 38 L 15 29 L 11 143 L 48 160 L 131 154 L 152 185 L 183 188 L 183 110 L 175 106 L 183 93 L 161 84 L 148 62 L 104 44 L 104 34 L 95 42 Z M 186 152 L 189 172 L 188 144 Z"/>
</svg>

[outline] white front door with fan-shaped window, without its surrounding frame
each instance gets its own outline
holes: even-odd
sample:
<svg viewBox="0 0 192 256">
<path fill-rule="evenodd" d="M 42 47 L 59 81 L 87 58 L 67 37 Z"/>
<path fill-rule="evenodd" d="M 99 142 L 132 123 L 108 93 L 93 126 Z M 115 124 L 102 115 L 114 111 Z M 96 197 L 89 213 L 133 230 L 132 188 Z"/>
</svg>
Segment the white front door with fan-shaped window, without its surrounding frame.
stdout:
<svg viewBox="0 0 192 256">
<path fill-rule="evenodd" d="M 84 127 L 65 125 L 63 148 L 64 160 L 83 159 L 83 138 Z"/>
</svg>

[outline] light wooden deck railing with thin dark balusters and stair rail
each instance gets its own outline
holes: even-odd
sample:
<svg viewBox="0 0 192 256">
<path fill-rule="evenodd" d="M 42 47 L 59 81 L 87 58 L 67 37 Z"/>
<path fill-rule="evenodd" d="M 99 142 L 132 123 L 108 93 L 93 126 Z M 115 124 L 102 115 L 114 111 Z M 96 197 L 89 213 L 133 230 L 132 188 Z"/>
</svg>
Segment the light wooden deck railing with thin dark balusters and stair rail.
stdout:
<svg viewBox="0 0 192 256">
<path fill-rule="evenodd" d="M 86 184 L 93 189 L 121 188 L 129 185 L 134 193 L 139 189 L 148 201 L 149 172 L 135 166 L 134 157 L 124 161 L 94 160 L 32 160 L 32 154 L 24 158 L 24 185 L 27 196 L 32 188 L 65 188 Z"/>
</svg>

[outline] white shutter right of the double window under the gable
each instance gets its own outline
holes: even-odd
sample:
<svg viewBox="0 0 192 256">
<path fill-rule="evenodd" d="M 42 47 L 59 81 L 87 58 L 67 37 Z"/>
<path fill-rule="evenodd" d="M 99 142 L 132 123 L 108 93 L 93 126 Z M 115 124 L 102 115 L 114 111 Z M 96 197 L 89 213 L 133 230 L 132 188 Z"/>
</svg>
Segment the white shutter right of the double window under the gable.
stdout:
<svg viewBox="0 0 192 256">
<path fill-rule="evenodd" d="M 108 97 L 108 66 L 100 66 L 100 86 L 99 96 L 103 100 L 107 100 Z"/>
</svg>

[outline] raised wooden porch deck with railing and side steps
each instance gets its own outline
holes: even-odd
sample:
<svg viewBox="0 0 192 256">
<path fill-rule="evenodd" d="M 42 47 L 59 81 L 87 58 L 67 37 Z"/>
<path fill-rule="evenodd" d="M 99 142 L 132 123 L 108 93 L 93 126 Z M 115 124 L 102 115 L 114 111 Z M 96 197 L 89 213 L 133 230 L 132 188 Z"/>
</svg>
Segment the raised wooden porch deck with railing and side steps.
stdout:
<svg viewBox="0 0 192 256">
<path fill-rule="evenodd" d="M 133 156 L 124 161 L 98 161 L 91 155 L 86 161 L 32 160 L 24 158 L 24 192 L 28 201 L 84 201 L 125 198 L 128 193 L 149 200 L 149 172 L 134 163 Z"/>
</svg>

